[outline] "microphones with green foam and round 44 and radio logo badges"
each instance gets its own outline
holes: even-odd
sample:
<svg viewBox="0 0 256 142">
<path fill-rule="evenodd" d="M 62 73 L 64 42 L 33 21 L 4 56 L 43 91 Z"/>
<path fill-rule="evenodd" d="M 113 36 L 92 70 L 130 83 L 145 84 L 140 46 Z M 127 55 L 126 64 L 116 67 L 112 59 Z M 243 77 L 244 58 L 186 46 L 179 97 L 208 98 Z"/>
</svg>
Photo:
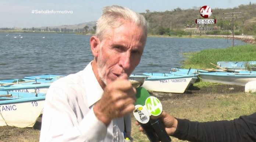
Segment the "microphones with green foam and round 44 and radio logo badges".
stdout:
<svg viewBox="0 0 256 142">
<path fill-rule="evenodd" d="M 143 88 L 136 88 L 136 102 L 134 109 L 134 117 L 138 120 L 150 142 L 171 142 L 170 136 L 167 134 L 163 122 L 160 119 L 150 119 L 150 115 L 159 116 L 162 112 L 161 102 Z"/>
</svg>

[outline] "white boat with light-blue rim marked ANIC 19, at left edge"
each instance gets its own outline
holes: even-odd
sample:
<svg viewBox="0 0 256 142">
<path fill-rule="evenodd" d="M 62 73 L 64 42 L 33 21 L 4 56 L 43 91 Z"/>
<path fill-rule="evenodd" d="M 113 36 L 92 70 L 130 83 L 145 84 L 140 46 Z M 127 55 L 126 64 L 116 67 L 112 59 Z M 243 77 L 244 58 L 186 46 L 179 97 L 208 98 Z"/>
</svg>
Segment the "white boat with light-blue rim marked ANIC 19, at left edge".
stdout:
<svg viewBox="0 0 256 142">
<path fill-rule="evenodd" d="M 33 127 L 44 104 L 43 93 L 0 91 L 0 126 Z"/>
</svg>

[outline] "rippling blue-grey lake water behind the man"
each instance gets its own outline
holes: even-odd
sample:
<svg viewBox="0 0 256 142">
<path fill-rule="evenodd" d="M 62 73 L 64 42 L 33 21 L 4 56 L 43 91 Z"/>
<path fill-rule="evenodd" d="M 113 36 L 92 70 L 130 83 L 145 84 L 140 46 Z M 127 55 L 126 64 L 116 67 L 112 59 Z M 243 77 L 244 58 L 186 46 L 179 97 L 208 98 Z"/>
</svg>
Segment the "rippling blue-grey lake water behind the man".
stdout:
<svg viewBox="0 0 256 142">
<path fill-rule="evenodd" d="M 75 34 L 0 33 L 0 79 L 68 75 L 83 70 L 93 60 L 89 38 Z M 242 44 L 246 43 L 235 40 L 235 45 Z M 179 67 L 185 60 L 182 52 L 229 46 L 232 40 L 149 37 L 134 73 L 170 72 L 171 67 Z"/>
</svg>

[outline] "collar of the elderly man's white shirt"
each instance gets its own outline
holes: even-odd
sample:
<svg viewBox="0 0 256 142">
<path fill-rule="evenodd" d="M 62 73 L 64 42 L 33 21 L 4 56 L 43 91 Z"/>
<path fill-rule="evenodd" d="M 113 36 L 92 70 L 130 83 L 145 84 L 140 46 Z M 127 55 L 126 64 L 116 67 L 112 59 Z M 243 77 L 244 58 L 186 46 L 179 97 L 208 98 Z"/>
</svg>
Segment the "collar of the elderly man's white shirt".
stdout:
<svg viewBox="0 0 256 142">
<path fill-rule="evenodd" d="M 92 70 L 92 61 L 83 70 L 86 97 L 89 107 L 99 101 L 103 94 L 103 89 L 96 79 L 96 76 Z"/>
</svg>

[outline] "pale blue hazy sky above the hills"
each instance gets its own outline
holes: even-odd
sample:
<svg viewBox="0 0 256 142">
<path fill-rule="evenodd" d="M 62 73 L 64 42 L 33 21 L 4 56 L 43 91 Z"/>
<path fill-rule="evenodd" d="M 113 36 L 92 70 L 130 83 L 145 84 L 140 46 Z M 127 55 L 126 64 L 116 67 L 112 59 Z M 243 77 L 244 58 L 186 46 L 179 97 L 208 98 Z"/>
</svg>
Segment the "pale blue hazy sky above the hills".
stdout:
<svg viewBox="0 0 256 142">
<path fill-rule="evenodd" d="M 109 5 L 120 5 L 136 12 L 163 12 L 178 7 L 185 10 L 208 5 L 214 11 L 214 8 L 234 8 L 250 2 L 256 3 L 256 0 L 0 0 L 0 27 L 31 28 L 96 21 L 102 8 Z M 57 11 L 63 14 L 56 14 Z"/>
</svg>

